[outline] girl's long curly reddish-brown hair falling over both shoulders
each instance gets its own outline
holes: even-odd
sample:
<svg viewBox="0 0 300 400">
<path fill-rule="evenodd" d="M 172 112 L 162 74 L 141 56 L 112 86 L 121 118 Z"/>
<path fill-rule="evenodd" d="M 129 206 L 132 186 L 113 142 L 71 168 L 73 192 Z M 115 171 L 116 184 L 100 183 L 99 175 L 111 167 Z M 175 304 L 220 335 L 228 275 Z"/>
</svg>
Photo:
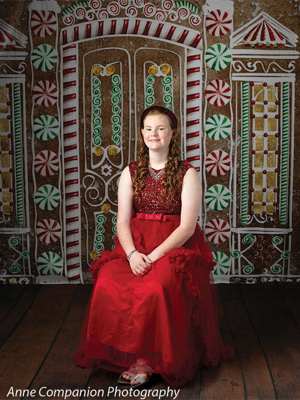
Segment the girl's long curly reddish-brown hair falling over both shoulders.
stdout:
<svg viewBox="0 0 300 400">
<path fill-rule="evenodd" d="M 179 151 L 179 142 L 180 142 L 180 129 L 178 128 L 177 118 L 176 116 L 170 112 L 169 110 L 164 111 L 164 107 L 160 106 L 150 106 L 146 110 L 143 111 L 139 123 L 139 129 L 137 133 L 137 139 L 139 143 L 139 152 L 137 154 L 138 165 L 134 173 L 132 186 L 133 186 L 133 194 L 137 195 L 140 199 L 140 191 L 144 188 L 147 180 L 147 175 L 149 173 L 149 148 L 146 146 L 141 129 L 143 129 L 143 122 L 147 115 L 159 115 L 164 114 L 167 115 L 170 123 L 171 129 L 174 129 L 174 136 L 169 144 L 169 153 L 167 157 L 167 161 L 162 170 L 162 193 L 164 193 L 167 202 L 171 203 L 175 192 L 178 190 L 181 192 L 182 187 L 182 179 L 180 178 L 181 174 L 184 171 L 184 167 L 181 166 L 180 163 L 180 151 Z M 170 116 L 172 115 L 172 117 Z M 174 123 L 176 122 L 176 125 Z"/>
</svg>

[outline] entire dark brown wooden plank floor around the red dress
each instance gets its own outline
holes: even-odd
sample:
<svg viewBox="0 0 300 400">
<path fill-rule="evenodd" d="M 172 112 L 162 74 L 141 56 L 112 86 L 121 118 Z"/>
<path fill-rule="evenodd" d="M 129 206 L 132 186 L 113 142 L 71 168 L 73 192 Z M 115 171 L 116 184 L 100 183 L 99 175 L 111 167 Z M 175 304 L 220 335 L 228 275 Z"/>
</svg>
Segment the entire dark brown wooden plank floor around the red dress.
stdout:
<svg viewBox="0 0 300 400">
<path fill-rule="evenodd" d="M 117 373 L 72 364 L 91 290 L 87 284 L 2 285 L 0 288 L 0 399 L 41 397 L 43 389 L 103 389 L 103 396 L 75 393 L 68 399 L 140 399 L 116 383 Z M 197 370 L 176 399 L 300 399 L 300 283 L 215 285 L 224 343 L 235 357 L 216 369 Z M 7 395 L 11 388 L 35 389 L 31 395 Z M 158 374 L 142 398 L 173 399 Z M 141 387 L 141 389 L 144 389 Z M 66 392 L 64 392 L 66 395 Z"/>
</svg>

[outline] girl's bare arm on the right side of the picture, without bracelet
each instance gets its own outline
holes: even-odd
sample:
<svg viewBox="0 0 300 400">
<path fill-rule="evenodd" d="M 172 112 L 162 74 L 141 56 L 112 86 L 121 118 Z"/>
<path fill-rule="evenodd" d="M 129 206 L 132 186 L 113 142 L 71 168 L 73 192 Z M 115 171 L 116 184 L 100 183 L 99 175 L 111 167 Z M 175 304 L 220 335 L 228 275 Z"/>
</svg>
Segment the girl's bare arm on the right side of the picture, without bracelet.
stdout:
<svg viewBox="0 0 300 400">
<path fill-rule="evenodd" d="M 182 181 L 180 225 L 148 254 L 152 262 L 163 257 L 164 252 L 182 246 L 193 234 L 198 219 L 201 197 L 202 185 L 198 173 L 194 168 L 189 168 Z"/>
</svg>

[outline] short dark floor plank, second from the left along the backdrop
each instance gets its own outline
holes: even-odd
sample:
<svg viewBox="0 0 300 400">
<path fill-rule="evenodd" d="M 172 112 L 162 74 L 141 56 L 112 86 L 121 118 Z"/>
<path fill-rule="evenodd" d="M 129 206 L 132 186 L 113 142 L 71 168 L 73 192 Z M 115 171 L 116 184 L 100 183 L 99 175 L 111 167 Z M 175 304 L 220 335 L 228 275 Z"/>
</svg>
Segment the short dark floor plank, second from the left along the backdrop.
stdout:
<svg viewBox="0 0 300 400">
<path fill-rule="evenodd" d="M 40 285 L 25 285 L 24 290 L 20 292 L 18 297 L 15 299 L 13 305 L 11 304 L 11 308 L 9 309 L 9 311 L 7 311 L 6 315 L 0 323 L 0 347 L 10 336 L 19 321 L 23 318 L 28 308 L 31 307 L 32 302 L 34 301 L 34 298 L 40 289 Z M 13 289 L 12 292 L 17 293 L 18 291 Z"/>
</svg>

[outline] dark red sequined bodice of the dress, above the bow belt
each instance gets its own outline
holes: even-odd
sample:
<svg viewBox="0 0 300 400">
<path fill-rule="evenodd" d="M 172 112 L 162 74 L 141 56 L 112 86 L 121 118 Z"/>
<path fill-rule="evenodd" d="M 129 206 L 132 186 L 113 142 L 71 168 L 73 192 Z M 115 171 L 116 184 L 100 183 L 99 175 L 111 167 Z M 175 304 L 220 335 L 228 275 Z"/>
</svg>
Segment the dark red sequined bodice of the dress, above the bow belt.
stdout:
<svg viewBox="0 0 300 400">
<path fill-rule="evenodd" d="M 132 161 L 128 164 L 131 181 L 134 177 L 134 171 L 137 168 L 138 161 Z M 181 165 L 184 166 L 184 173 L 188 168 L 193 167 L 188 161 L 181 160 Z M 160 169 L 154 169 L 159 172 Z M 182 179 L 184 176 L 182 174 Z M 161 178 L 156 181 L 148 172 L 145 187 L 141 191 L 141 198 L 139 201 L 138 196 L 133 195 L 133 208 L 135 212 L 150 212 L 162 214 L 180 214 L 181 213 L 181 193 L 177 190 L 171 204 L 167 204 L 165 196 L 160 194 L 163 189 Z"/>
</svg>

